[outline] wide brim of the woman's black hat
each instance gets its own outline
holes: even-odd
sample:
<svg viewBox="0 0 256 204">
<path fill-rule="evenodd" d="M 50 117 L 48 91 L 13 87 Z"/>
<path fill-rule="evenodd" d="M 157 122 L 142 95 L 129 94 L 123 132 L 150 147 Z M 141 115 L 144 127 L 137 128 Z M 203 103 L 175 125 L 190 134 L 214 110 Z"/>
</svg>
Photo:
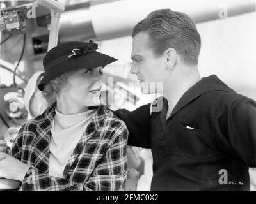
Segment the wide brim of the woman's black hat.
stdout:
<svg viewBox="0 0 256 204">
<path fill-rule="evenodd" d="M 77 71 L 82 68 L 97 68 L 98 66 L 106 66 L 112 62 L 117 61 L 114 57 L 102 54 L 101 52 L 90 52 L 86 55 L 74 57 L 73 59 L 67 59 L 65 62 L 61 62 L 57 66 L 51 68 L 51 70 L 45 71 L 45 75 L 38 84 L 40 91 L 44 90 L 44 85 L 50 82 L 54 78 L 60 77 L 64 73 L 70 71 Z"/>
</svg>

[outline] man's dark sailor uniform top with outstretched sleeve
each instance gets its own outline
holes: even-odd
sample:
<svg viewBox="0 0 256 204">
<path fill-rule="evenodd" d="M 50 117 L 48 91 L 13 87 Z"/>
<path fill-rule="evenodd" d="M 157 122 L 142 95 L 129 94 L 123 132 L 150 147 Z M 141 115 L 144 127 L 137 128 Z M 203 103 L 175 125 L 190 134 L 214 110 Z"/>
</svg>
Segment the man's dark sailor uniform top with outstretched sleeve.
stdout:
<svg viewBox="0 0 256 204">
<path fill-rule="evenodd" d="M 249 191 L 256 167 L 256 103 L 216 75 L 202 78 L 166 120 L 150 106 L 115 114 L 129 129 L 128 145 L 151 148 L 152 191 Z"/>
</svg>

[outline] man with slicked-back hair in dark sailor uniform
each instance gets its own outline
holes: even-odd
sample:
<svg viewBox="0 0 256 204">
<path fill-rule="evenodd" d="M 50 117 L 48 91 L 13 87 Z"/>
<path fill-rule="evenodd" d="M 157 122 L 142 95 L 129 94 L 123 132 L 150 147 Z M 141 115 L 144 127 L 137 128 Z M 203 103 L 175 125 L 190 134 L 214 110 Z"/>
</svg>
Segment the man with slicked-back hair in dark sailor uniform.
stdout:
<svg viewBox="0 0 256 204">
<path fill-rule="evenodd" d="M 115 114 L 127 124 L 128 145 L 152 149 L 151 190 L 250 190 L 256 103 L 216 75 L 200 77 L 195 23 L 184 13 L 156 10 L 134 27 L 132 37 L 131 73 L 141 85 L 163 83 L 163 108 L 144 105 Z"/>
</svg>

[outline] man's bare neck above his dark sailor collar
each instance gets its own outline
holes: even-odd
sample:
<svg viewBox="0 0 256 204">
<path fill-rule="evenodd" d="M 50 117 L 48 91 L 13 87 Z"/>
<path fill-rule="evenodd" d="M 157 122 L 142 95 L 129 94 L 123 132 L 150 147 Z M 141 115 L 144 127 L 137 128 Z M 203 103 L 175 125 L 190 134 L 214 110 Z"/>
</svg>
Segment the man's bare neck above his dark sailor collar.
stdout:
<svg viewBox="0 0 256 204">
<path fill-rule="evenodd" d="M 184 95 L 184 93 L 200 80 L 201 78 L 199 73 L 193 73 L 189 76 L 180 77 L 180 80 L 176 81 L 176 83 L 170 82 L 170 84 L 165 85 L 166 91 L 163 92 L 163 96 L 168 101 L 166 119 L 168 119 L 173 108 L 177 105 L 179 99 Z"/>
</svg>

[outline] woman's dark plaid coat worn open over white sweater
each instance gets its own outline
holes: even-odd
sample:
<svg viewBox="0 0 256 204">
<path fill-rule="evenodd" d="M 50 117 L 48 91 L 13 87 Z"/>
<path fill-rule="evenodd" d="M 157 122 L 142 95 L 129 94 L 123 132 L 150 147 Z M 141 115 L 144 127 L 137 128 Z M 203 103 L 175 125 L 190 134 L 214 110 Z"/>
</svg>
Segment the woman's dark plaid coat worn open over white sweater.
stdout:
<svg viewBox="0 0 256 204">
<path fill-rule="evenodd" d="M 8 154 L 28 164 L 20 191 L 124 191 L 127 128 L 100 105 L 65 166 L 65 178 L 49 175 L 49 143 L 56 104 L 20 128 Z"/>
</svg>

